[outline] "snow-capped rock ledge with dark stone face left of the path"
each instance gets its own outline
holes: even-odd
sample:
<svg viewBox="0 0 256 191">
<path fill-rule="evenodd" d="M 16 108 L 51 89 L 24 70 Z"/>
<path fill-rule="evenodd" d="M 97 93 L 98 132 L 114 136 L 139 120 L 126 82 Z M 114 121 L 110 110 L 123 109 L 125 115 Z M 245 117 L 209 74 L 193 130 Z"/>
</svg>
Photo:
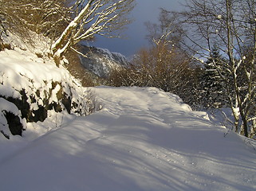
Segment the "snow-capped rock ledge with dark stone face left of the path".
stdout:
<svg viewBox="0 0 256 191">
<path fill-rule="evenodd" d="M 69 72 L 22 49 L 0 52 L 0 91 L 0 131 L 6 138 L 22 135 L 26 123 L 44 121 L 50 110 L 86 115 L 88 101 Z"/>
</svg>

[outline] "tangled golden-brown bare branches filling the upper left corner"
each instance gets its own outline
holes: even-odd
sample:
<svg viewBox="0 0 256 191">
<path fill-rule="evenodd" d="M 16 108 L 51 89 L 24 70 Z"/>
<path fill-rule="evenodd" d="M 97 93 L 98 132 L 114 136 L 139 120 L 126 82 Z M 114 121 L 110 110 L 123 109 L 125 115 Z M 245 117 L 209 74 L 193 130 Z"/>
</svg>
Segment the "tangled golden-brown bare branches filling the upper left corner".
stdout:
<svg viewBox="0 0 256 191">
<path fill-rule="evenodd" d="M 1 0 L 0 32 L 9 30 L 19 37 L 30 38 L 29 31 L 34 31 L 54 38 L 70 21 L 71 10 L 67 3 L 61 0 Z"/>
</svg>

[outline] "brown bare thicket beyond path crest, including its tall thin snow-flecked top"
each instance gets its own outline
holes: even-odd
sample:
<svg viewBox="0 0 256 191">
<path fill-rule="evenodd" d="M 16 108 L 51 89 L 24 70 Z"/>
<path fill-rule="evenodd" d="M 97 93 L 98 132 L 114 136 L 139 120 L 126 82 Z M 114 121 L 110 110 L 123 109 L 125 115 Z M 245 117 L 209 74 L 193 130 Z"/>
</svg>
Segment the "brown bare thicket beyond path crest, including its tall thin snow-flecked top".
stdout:
<svg viewBox="0 0 256 191">
<path fill-rule="evenodd" d="M 159 24 L 146 25 L 151 46 L 141 49 L 128 67 L 112 71 L 109 84 L 161 88 L 178 94 L 186 103 L 194 103 L 195 96 L 191 95 L 198 70 L 179 49 L 182 37 L 175 17 L 162 10 Z"/>
</svg>

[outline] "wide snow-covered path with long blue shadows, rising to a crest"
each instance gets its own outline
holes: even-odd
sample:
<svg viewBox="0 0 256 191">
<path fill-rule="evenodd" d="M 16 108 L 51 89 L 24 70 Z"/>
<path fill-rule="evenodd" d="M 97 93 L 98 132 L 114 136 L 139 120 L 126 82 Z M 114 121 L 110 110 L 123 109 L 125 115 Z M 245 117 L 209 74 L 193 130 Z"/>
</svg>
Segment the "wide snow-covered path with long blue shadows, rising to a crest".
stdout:
<svg viewBox="0 0 256 191">
<path fill-rule="evenodd" d="M 179 97 L 156 88 L 93 91 L 103 110 L 0 158 L 0 190 L 256 189 L 255 151 Z"/>
</svg>

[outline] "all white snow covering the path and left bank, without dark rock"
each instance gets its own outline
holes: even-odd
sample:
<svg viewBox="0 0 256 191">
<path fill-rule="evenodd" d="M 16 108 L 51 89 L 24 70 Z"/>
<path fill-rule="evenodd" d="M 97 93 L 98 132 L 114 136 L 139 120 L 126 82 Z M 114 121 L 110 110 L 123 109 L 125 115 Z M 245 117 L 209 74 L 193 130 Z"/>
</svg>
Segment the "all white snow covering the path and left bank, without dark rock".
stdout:
<svg viewBox="0 0 256 191">
<path fill-rule="evenodd" d="M 256 190 L 255 141 L 226 134 L 218 118 L 156 88 L 81 88 L 65 68 L 38 57 L 42 47 L 9 43 L 14 49 L 0 52 L 0 130 L 10 135 L 0 133 L 0 190 Z M 20 99 L 25 89 L 33 111 L 47 95 L 58 102 L 60 86 L 77 103 L 89 91 L 102 110 L 47 111 L 44 122 L 22 119 L 22 137 L 10 134 L 4 113 L 21 113 L 4 98 Z"/>
</svg>

